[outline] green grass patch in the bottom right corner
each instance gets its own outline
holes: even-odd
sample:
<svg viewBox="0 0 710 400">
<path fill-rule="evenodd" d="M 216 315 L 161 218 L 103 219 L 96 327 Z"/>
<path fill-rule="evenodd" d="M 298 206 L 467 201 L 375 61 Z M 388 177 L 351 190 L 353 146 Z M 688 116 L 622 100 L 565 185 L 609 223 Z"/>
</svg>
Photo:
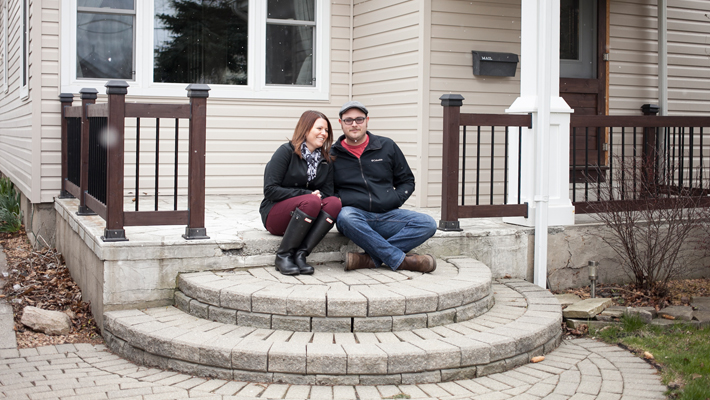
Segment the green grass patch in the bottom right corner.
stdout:
<svg viewBox="0 0 710 400">
<path fill-rule="evenodd" d="M 678 324 L 660 328 L 625 317 L 620 326 L 592 330 L 590 335 L 608 343 L 621 343 L 643 355 L 649 352 L 662 366 L 668 395 L 681 400 L 710 399 L 710 327 Z"/>
</svg>

